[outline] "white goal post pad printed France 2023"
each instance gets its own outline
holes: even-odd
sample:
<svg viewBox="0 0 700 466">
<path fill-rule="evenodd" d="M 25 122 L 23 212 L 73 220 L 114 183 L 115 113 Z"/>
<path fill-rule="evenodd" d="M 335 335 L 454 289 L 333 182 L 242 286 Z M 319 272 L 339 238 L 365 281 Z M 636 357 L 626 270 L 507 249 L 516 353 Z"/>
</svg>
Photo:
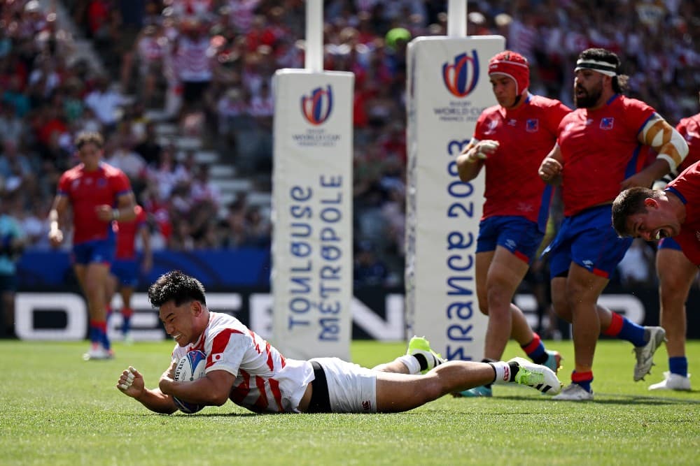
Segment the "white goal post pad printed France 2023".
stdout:
<svg viewBox="0 0 700 466">
<path fill-rule="evenodd" d="M 504 48 L 502 36 L 419 37 L 408 47 L 407 337 L 425 335 L 448 359 L 484 354 L 475 282 L 484 174 L 461 182 L 456 156 L 496 105 L 488 62 Z"/>
</svg>

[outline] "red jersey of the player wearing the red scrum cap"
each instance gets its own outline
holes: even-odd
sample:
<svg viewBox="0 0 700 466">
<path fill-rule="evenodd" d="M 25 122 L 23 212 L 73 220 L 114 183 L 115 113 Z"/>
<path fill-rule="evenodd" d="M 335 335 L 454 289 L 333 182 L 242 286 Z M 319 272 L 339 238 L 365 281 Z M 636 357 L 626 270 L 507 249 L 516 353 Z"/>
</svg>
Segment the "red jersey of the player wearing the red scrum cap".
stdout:
<svg viewBox="0 0 700 466">
<path fill-rule="evenodd" d="M 549 198 L 542 202 L 546 184 L 538 169 L 556 143 L 559 122 L 570 111 L 559 101 L 530 94 L 514 110 L 494 105 L 482 112 L 472 142 L 498 141 L 496 152 L 484 161 L 486 203 L 482 219 L 517 215 L 538 221 L 544 215 L 547 220 Z"/>
</svg>

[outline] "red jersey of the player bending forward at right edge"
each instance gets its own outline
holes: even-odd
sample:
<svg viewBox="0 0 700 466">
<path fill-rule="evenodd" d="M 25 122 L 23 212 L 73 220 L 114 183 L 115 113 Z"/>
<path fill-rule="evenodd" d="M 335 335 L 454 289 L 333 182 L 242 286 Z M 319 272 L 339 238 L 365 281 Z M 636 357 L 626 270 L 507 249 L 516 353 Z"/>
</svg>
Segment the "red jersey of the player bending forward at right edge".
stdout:
<svg viewBox="0 0 700 466">
<path fill-rule="evenodd" d="M 693 163 L 668 183 L 666 191 L 671 191 L 685 204 L 685 222 L 673 239 L 683 254 L 700 266 L 700 162 Z"/>
</svg>

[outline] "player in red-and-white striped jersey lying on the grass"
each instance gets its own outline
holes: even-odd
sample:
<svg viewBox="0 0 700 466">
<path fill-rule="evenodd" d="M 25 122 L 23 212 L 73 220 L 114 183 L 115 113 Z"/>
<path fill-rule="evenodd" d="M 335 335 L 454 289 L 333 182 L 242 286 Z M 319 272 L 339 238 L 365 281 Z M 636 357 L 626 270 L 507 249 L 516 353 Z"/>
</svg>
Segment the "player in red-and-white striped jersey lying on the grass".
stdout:
<svg viewBox="0 0 700 466">
<path fill-rule="evenodd" d="M 148 289 L 148 299 L 176 341 L 172 364 L 158 388 L 146 388 L 133 367 L 122 372 L 117 388 L 158 413 L 176 411 L 173 397 L 216 406 L 231 400 L 253 412 L 401 412 L 485 384 L 521 384 L 547 394 L 561 391 L 548 367 L 522 358 L 444 362 L 422 338 L 412 340 L 405 356 L 373 370 L 338 358 L 285 358 L 235 317 L 210 312 L 204 286 L 179 271 L 162 275 Z M 176 363 L 192 350 L 207 354 L 205 376 L 175 381 Z"/>
</svg>

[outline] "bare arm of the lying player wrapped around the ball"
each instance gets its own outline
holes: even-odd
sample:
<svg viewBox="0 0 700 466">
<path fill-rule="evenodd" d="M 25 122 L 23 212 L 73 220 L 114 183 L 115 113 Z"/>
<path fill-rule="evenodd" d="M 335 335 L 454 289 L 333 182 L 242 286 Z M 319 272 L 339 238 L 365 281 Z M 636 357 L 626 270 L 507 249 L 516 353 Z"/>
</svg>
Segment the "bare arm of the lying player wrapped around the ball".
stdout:
<svg viewBox="0 0 700 466">
<path fill-rule="evenodd" d="M 225 370 L 212 370 L 195 381 L 176 381 L 174 365 L 160 377 L 160 391 L 200 405 L 221 406 L 228 401 L 236 377 Z"/>
</svg>

